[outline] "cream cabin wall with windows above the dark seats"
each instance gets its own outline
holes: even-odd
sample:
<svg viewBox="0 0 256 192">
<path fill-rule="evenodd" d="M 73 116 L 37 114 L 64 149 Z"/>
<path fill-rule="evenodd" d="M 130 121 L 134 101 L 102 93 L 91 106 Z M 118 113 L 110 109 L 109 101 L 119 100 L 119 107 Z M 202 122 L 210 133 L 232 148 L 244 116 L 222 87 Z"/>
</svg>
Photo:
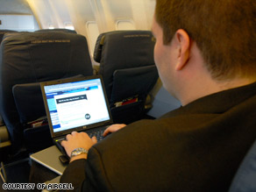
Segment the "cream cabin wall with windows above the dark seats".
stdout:
<svg viewBox="0 0 256 192">
<path fill-rule="evenodd" d="M 40 28 L 68 28 L 89 39 L 114 30 L 150 30 L 154 0 L 27 0 Z"/>
</svg>

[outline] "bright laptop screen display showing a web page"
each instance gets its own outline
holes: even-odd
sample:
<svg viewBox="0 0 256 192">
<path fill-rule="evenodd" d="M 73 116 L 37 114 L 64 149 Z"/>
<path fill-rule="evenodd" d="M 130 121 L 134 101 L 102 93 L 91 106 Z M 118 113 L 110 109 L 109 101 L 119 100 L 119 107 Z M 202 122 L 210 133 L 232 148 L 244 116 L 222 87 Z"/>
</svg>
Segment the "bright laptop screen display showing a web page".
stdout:
<svg viewBox="0 0 256 192">
<path fill-rule="evenodd" d="M 110 119 L 100 79 L 44 87 L 53 132 Z"/>
</svg>

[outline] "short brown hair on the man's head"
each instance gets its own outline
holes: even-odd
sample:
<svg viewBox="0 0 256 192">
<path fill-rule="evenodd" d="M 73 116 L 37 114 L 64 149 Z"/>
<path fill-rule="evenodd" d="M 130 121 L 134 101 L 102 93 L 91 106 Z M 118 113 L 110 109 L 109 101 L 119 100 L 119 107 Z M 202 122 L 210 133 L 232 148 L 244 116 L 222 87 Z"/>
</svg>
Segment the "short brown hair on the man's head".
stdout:
<svg viewBox="0 0 256 192">
<path fill-rule="evenodd" d="M 168 45 L 183 29 L 217 81 L 256 75 L 255 0 L 156 0 L 155 20 Z"/>
</svg>

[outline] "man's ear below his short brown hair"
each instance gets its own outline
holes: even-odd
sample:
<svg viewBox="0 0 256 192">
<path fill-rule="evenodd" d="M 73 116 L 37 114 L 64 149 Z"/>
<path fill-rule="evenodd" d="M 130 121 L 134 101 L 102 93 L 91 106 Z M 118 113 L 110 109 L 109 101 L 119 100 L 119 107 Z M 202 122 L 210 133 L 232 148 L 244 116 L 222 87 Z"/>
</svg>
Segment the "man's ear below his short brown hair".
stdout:
<svg viewBox="0 0 256 192">
<path fill-rule="evenodd" d="M 188 32 L 179 29 L 175 32 L 174 38 L 179 47 L 178 62 L 176 64 L 176 70 L 181 70 L 186 66 L 190 55 L 190 39 Z"/>
</svg>

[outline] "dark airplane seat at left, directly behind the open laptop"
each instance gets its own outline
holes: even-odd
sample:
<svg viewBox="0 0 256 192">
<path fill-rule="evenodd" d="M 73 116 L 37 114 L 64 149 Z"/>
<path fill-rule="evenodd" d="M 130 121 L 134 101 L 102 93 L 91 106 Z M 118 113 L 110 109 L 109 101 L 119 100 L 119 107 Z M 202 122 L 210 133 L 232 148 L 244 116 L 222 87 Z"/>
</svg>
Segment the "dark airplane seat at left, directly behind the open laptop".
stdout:
<svg viewBox="0 0 256 192">
<path fill-rule="evenodd" d="M 12 152 L 52 145 L 39 82 L 92 75 L 87 39 L 74 32 L 8 33 L 0 47 L 0 112 Z M 45 123 L 45 119 L 41 123 Z"/>
</svg>

